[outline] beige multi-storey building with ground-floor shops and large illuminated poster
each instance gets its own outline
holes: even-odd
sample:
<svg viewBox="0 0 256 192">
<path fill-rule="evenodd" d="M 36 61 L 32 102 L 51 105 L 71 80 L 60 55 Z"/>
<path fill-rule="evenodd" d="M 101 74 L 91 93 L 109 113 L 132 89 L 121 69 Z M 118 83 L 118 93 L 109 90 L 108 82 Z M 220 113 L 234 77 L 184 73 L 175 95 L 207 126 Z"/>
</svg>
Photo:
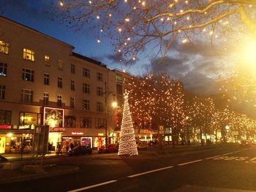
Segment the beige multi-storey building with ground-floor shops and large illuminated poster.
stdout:
<svg viewBox="0 0 256 192">
<path fill-rule="evenodd" d="M 0 31 L 0 153 L 30 150 L 34 128 L 43 125 L 53 150 L 117 141 L 109 115 L 116 72 L 12 20 L 0 17 Z"/>
</svg>

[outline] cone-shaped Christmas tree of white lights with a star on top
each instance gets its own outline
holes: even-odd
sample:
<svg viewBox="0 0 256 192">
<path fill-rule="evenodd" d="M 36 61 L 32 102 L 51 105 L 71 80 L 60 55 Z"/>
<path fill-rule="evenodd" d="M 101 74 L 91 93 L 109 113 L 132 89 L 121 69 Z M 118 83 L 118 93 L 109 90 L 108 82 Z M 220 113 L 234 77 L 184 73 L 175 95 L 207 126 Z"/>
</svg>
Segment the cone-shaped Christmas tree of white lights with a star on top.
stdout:
<svg viewBox="0 0 256 192">
<path fill-rule="evenodd" d="M 123 119 L 121 120 L 121 135 L 118 149 L 118 155 L 138 155 L 138 149 L 135 140 L 135 130 L 132 124 L 131 113 L 129 112 L 128 94 L 124 93 Z"/>
</svg>

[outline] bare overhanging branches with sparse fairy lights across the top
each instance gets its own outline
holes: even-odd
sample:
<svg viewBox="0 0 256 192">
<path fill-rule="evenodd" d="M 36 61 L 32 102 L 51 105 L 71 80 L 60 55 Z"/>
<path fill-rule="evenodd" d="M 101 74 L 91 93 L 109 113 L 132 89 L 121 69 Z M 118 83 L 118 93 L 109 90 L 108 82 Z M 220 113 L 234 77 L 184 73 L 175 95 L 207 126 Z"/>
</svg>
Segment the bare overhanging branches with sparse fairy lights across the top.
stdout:
<svg viewBox="0 0 256 192">
<path fill-rule="evenodd" d="M 238 33 L 256 39 L 256 0 L 62 0 L 60 4 L 70 26 L 96 28 L 97 42 L 110 35 L 116 54 L 130 60 L 146 47 L 162 57 L 177 40 L 206 39 L 198 34 L 211 40 Z"/>
</svg>

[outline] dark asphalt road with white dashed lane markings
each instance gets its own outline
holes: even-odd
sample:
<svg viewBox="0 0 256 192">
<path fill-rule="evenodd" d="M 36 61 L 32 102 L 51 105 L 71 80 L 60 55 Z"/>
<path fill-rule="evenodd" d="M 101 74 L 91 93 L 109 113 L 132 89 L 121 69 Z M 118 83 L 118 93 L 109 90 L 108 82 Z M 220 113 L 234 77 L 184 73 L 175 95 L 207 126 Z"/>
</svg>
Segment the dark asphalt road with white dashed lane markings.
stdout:
<svg viewBox="0 0 256 192">
<path fill-rule="evenodd" d="M 115 157 L 116 153 L 48 159 L 48 164 L 75 165 L 80 171 L 1 185 L 0 191 L 256 191 L 256 147 Z"/>
</svg>

